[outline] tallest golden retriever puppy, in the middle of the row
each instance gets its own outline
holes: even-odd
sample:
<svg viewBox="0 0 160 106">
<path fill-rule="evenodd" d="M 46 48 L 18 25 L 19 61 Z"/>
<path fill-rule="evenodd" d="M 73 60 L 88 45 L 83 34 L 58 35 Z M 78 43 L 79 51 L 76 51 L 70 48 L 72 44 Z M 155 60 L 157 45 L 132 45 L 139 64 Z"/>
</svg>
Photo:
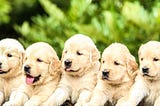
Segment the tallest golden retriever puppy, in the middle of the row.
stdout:
<svg viewBox="0 0 160 106">
<path fill-rule="evenodd" d="M 91 97 L 100 67 L 100 53 L 93 41 L 82 34 L 69 38 L 62 53 L 64 69 L 60 84 L 44 106 L 59 106 L 71 99 L 81 106 Z"/>
</svg>

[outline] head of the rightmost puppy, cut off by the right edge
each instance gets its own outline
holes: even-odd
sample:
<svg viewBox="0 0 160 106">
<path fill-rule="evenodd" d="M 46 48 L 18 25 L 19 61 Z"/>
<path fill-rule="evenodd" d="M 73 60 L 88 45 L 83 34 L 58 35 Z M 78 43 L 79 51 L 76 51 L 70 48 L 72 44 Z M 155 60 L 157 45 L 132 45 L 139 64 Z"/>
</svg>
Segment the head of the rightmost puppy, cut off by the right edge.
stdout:
<svg viewBox="0 0 160 106">
<path fill-rule="evenodd" d="M 140 73 L 148 79 L 160 79 L 160 42 L 149 41 L 138 51 Z"/>
</svg>

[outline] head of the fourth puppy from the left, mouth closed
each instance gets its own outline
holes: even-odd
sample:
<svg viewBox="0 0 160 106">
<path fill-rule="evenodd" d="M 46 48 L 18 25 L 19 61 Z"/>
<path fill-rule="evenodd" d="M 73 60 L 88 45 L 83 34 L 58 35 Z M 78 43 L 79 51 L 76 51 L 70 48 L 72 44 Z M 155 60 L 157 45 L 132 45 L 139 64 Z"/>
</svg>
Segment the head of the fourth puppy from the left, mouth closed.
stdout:
<svg viewBox="0 0 160 106">
<path fill-rule="evenodd" d="M 135 58 L 123 44 L 113 43 L 102 53 L 100 76 L 108 83 L 127 82 L 135 77 L 137 69 Z"/>
</svg>

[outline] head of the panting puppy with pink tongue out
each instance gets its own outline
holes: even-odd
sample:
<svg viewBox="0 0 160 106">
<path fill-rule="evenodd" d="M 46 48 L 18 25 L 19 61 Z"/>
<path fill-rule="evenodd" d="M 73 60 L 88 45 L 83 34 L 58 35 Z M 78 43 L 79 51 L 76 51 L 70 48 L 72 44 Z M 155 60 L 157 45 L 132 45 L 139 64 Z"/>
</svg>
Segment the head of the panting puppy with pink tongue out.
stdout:
<svg viewBox="0 0 160 106">
<path fill-rule="evenodd" d="M 42 84 L 47 78 L 58 76 L 59 68 L 58 56 L 49 44 L 37 42 L 26 49 L 23 70 L 27 84 Z"/>
</svg>

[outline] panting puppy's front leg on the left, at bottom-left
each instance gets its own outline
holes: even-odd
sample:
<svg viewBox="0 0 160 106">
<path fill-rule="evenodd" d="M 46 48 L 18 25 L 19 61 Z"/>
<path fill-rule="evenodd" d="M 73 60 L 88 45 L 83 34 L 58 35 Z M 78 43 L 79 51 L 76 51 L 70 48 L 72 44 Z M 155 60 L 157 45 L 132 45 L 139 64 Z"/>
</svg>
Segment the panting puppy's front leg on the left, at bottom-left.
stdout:
<svg viewBox="0 0 160 106">
<path fill-rule="evenodd" d="M 23 92 L 13 91 L 10 95 L 9 101 L 5 102 L 3 106 L 22 106 L 28 100 L 28 96 Z"/>
</svg>

